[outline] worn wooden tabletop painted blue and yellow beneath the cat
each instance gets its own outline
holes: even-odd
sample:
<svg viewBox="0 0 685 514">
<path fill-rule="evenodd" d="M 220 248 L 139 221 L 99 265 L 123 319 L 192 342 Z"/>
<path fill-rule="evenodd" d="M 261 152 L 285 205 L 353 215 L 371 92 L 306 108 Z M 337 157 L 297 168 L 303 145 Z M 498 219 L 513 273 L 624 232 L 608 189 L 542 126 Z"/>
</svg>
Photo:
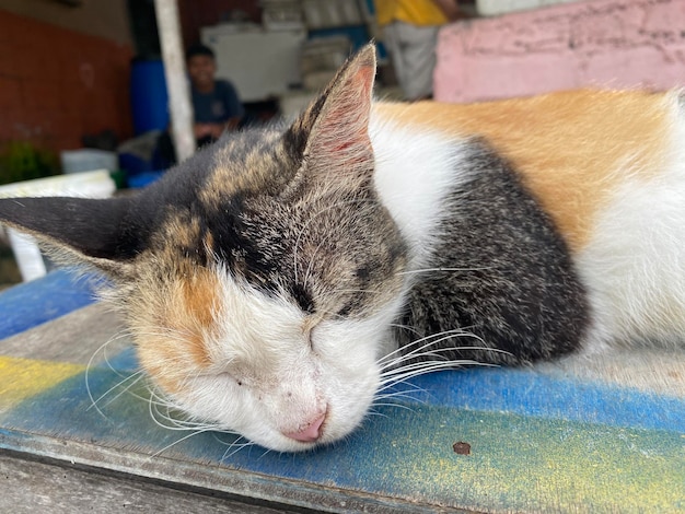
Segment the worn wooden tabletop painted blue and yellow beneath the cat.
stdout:
<svg viewBox="0 0 685 514">
<path fill-rule="evenodd" d="M 0 294 L 0 448 L 332 512 L 685 512 L 683 352 L 425 375 L 280 454 L 177 430 L 120 328 L 63 271 Z"/>
</svg>

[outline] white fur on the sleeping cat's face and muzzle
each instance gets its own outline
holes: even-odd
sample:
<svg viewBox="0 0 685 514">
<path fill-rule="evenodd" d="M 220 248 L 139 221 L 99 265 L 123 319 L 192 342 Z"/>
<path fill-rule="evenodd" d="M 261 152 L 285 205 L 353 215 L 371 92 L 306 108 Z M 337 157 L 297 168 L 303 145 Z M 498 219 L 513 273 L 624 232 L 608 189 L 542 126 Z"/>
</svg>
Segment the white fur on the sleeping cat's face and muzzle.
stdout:
<svg viewBox="0 0 685 514">
<path fill-rule="evenodd" d="M 399 301 L 364 320 L 321 320 L 286 296 L 269 297 L 224 270 L 221 334 L 207 341 L 212 365 L 174 398 L 218 429 L 279 451 L 344 437 L 367 416 L 379 387 L 379 348 Z M 240 383 L 240 384 L 239 384 Z M 326 414 L 323 435 L 303 443 L 285 434 Z"/>
</svg>

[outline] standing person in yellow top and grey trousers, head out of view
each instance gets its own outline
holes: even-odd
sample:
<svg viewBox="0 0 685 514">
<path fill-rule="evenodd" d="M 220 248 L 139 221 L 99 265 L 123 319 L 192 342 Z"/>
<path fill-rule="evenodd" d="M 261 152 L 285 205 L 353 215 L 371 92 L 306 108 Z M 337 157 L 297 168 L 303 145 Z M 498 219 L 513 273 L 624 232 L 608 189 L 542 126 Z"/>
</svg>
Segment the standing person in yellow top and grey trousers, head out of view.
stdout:
<svg viewBox="0 0 685 514">
<path fill-rule="evenodd" d="M 438 30 L 460 17 L 456 0 L 375 0 L 375 11 L 405 97 L 430 98 Z"/>
</svg>

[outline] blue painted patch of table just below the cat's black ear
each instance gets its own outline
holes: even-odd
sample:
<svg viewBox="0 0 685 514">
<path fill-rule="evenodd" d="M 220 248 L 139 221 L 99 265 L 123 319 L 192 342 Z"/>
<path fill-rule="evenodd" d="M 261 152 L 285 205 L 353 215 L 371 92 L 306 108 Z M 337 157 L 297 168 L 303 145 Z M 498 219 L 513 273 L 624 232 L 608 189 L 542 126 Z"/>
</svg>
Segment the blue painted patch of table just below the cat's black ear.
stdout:
<svg viewBox="0 0 685 514">
<path fill-rule="evenodd" d="M 0 294 L 0 339 L 63 316 L 95 301 L 94 290 L 103 279 L 77 276 L 69 270 L 21 283 Z"/>
</svg>

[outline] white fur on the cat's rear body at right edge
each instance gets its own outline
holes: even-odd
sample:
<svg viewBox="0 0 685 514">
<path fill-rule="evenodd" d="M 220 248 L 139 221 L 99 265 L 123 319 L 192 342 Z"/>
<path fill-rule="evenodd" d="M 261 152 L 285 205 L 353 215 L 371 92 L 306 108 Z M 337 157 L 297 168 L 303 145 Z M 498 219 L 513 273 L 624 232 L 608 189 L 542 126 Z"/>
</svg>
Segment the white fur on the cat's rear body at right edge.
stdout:
<svg viewBox="0 0 685 514">
<path fill-rule="evenodd" d="M 624 178 L 577 258 L 594 326 L 585 351 L 611 342 L 676 344 L 685 339 L 685 119 L 677 97 L 670 152 L 660 170 L 626 163 Z"/>
</svg>

